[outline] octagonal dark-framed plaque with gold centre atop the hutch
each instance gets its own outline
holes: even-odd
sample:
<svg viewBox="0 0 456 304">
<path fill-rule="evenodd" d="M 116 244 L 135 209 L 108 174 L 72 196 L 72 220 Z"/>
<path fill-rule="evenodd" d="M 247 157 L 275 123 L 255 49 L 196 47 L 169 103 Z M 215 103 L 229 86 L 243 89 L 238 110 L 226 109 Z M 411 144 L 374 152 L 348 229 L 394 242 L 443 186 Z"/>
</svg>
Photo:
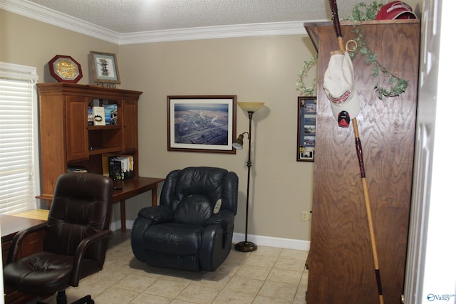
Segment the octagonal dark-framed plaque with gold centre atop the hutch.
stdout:
<svg viewBox="0 0 456 304">
<path fill-rule="evenodd" d="M 71 56 L 56 55 L 49 62 L 49 73 L 59 83 L 78 83 L 83 78 L 81 65 Z"/>
</svg>

